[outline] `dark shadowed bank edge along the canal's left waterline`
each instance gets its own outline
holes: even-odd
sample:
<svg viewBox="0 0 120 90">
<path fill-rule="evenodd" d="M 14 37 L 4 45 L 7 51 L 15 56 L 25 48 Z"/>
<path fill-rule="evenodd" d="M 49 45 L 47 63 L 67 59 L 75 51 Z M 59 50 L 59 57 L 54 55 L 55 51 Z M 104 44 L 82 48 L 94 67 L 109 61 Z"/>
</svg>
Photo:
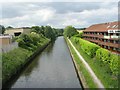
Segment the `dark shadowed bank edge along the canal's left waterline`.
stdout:
<svg viewBox="0 0 120 90">
<path fill-rule="evenodd" d="M 11 80 L 13 80 L 14 78 L 17 78 L 21 74 L 21 72 L 33 61 L 33 59 L 39 53 L 41 53 L 50 43 L 51 43 L 51 41 L 48 41 L 44 45 L 38 47 L 38 49 L 36 51 L 34 51 L 33 54 L 25 60 L 26 62 L 24 62 L 24 65 L 17 69 L 16 73 L 12 74 L 11 77 L 8 80 L 5 80 L 4 82 L 2 82 L 2 88 L 3 89 L 7 88 L 8 83 Z"/>
</svg>

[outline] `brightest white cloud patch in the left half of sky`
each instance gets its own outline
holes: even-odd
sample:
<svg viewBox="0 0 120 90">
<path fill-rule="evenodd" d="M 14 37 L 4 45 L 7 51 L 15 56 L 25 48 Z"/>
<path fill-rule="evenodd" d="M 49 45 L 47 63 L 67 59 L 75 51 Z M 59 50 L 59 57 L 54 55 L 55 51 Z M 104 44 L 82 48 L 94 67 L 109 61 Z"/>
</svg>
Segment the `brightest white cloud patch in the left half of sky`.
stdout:
<svg viewBox="0 0 120 90">
<path fill-rule="evenodd" d="M 22 25 L 35 25 L 36 23 L 47 22 L 54 17 L 55 10 L 53 9 L 41 9 L 36 11 L 30 11 L 28 14 L 13 18 L 3 18 L 0 23 L 3 25 L 12 25 L 20 27 Z"/>
</svg>

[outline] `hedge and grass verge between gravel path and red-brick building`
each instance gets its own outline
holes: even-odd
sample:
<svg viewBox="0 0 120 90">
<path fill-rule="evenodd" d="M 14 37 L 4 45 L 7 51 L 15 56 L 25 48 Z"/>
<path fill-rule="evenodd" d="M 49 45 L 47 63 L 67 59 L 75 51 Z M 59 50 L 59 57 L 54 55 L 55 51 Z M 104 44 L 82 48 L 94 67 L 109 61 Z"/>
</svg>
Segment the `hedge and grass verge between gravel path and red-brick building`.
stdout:
<svg viewBox="0 0 120 90">
<path fill-rule="evenodd" d="M 118 88 L 119 56 L 78 37 L 70 40 L 106 88 Z M 86 44 L 85 44 L 86 43 Z M 91 44 L 90 44 L 91 43 Z M 86 48 L 88 47 L 89 48 Z M 95 50 L 93 49 L 95 47 Z M 91 50 L 92 48 L 92 50 Z M 90 50 L 87 50 L 90 49 Z M 86 52 L 86 50 L 89 52 Z M 90 52 L 91 51 L 91 52 Z M 90 56 L 92 55 L 92 57 Z"/>
</svg>

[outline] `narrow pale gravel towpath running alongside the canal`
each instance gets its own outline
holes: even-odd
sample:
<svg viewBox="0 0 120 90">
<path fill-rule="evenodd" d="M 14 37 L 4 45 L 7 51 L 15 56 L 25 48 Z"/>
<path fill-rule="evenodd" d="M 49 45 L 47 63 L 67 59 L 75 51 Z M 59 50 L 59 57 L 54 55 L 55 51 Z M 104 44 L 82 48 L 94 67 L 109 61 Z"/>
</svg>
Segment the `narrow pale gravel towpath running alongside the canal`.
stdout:
<svg viewBox="0 0 120 90">
<path fill-rule="evenodd" d="M 95 73 L 93 72 L 93 70 L 90 68 L 90 66 L 88 65 L 88 63 L 84 60 L 84 58 L 80 55 L 80 53 L 78 52 L 78 50 L 74 47 L 74 45 L 72 44 L 72 42 L 68 39 L 69 43 L 71 44 L 71 46 L 73 47 L 73 49 L 75 50 L 76 54 L 78 55 L 79 59 L 83 62 L 83 64 L 85 65 L 85 68 L 88 70 L 88 72 L 90 73 L 92 79 L 94 80 L 94 82 L 97 84 L 98 88 L 104 88 L 103 84 L 101 83 L 101 81 L 97 78 L 97 76 L 95 75 Z"/>
</svg>

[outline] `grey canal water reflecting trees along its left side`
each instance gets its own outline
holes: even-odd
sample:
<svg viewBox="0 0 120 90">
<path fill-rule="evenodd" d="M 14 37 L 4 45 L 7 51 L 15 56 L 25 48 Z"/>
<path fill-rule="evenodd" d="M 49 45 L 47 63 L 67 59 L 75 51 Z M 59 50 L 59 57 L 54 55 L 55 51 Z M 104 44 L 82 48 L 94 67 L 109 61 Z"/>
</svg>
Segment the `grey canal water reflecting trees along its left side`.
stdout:
<svg viewBox="0 0 120 90">
<path fill-rule="evenodd" d="M 10 88 L 81 88 L 64 38 L 48 45 Z"/>
</svg>

